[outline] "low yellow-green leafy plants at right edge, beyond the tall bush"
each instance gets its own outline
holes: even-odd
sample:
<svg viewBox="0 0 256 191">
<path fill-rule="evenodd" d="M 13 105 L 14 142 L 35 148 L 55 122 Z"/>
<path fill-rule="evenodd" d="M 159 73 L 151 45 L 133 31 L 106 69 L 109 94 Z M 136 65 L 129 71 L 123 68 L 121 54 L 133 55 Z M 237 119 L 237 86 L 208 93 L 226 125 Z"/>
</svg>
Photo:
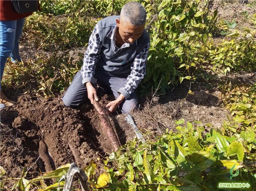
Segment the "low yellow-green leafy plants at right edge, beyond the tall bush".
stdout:
<svg viewBox="0 0 256 191">
<path fill-rule="evenodd" d="M 256 69 L 256 39 L 255 31 L 236 31 L 228 34 L 221 43 L 209 44 L 207 64 L 212 65 L 212 70 L 221 71 L 223 74 L 240 70 Z"/>
</svg>

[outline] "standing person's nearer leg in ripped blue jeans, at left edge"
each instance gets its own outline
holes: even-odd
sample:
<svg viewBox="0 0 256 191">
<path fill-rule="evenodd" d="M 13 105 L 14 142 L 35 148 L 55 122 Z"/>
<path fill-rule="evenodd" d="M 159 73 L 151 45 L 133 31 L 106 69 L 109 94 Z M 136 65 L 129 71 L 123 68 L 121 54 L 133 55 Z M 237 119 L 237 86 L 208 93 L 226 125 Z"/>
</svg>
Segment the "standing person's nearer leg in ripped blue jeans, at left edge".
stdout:
<svg viewBox="0 0 256 191">
<path fill-rule="evenodd" d="M 14 40 L 16 32 L 17 20 L 13 21 L 0 21 L 0 80 L 5 69 L 5 63 L 10 56 L 11 51 L 14 49 Z M 2 89 L 0 81 L 0 90 Z"/>
</svg>

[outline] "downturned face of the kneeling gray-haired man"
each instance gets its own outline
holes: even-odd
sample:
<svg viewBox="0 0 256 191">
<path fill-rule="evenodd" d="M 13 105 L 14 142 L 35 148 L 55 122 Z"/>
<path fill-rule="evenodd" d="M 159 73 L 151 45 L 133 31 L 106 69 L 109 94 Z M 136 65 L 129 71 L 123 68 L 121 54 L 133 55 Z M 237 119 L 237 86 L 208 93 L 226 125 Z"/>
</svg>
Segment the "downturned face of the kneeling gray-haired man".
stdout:
<svg viewBox="0 0 256 191">
<path fill-rule="evenodd" d="M 124 23 L 122 20 L 117 19 L 117 27 L 119 28 L 119 34 L 125 43 L 133 43 L 143 33 L 145 25 L 139 27 L 133 26 L 130 23 Z"/>
</svg>

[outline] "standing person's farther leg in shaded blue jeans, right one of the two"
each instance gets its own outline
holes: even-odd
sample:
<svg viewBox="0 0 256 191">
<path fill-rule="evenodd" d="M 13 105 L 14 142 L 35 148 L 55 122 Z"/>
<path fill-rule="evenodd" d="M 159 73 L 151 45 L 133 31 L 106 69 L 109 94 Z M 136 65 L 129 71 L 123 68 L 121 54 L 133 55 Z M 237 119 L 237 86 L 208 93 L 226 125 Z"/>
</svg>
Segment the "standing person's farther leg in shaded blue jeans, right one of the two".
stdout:
<svg viewBox="0 0 256 191">
<path fill-rule="evenodd" d="M 14 49 L 11 52 L 11 61 L 15 63 L 16 61 L 20 62 L 20 53 L 19 53 L 19 41 L 22 35 L 23 26 L 25 23 L 25 18 L 18 19 L 16 24 L 16 33 L 15 33 L 15 40 L 14 40 Z"/>
</svg>

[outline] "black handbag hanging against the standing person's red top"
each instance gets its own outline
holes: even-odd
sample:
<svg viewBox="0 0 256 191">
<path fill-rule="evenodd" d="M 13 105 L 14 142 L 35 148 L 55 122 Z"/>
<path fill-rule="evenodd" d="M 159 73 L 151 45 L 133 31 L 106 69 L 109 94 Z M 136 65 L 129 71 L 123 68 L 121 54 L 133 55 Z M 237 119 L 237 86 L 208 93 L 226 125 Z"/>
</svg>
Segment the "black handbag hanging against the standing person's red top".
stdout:
<svg viewBox="0 0 256 191">
<path fill-rule="evenodd" d="M 30 1 L 11 1 L 15 12 L 23 14 L 23 13 L 31 13 L 38 10 L 38 1 L 30 0 Z"/>
</svg>

